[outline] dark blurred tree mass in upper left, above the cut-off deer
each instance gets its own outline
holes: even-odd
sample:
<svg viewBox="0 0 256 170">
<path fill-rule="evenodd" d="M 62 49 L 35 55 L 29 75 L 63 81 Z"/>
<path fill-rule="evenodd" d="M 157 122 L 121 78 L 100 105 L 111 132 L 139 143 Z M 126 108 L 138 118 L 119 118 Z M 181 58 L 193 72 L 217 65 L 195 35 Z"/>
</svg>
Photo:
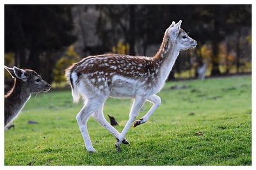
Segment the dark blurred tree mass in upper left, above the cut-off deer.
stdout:
<svg viewBox="0 0 256 170">
<path fill-rule="evenodd" d="M 40 73 L 47 64 L 40 60 L 43 52 L 55 52 L 76 40 L 71 33 L 71 8 L 70 5 L 4 6 L 4 50 L 15 53 L 16 66 Z"/>
</svg>

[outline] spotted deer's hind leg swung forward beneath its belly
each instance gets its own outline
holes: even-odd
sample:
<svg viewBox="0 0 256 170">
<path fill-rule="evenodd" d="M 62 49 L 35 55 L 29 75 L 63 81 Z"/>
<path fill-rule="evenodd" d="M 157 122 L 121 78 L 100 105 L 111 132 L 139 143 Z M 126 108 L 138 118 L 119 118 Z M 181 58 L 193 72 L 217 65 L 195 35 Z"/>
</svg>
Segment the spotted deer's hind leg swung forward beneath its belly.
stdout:
<svg viewBox="0 0 256 170">
<path fill-rule="evenodd" d="M 103 113 L 103 107 L 104 107 L 104 103 L 102 103 L 99 109 L 92 114 L 92 118 L 97 122 L 99 122 L 99 124 L 102 125 L 102 127 L 107 129 L 111 134 L 113 134 L 113 136 L 115 136 L 116 139 L 118 139 L 120 132 L 118 132 L 115 129 L 115 127 L 109 124 L 109 122 L 106 120 Z M 129 142 L 125 138 L 123 139 L 122 143 L 129 144 Z"/>
</svg>

